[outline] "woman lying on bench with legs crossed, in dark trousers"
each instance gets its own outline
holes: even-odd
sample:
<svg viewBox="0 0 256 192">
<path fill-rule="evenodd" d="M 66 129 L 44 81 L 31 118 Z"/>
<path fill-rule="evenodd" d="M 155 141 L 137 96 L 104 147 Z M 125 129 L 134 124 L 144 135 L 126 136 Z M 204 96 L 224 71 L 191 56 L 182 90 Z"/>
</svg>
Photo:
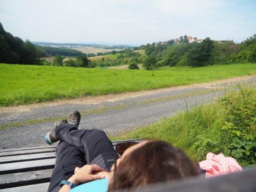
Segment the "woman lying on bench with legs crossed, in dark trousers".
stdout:
<svg viewBox="0 0 256 192">
<path fill-rule="evenodd" d="M 80 113 L 74 111 L 45 135 L 49 145 L 60 141 L 49 192 L 141 188 L 199 174 L 195 162 L 165 141 L 123 142 L 115 150 L 102 130 L 78 130 L 80 120 Z"/>
</svg>

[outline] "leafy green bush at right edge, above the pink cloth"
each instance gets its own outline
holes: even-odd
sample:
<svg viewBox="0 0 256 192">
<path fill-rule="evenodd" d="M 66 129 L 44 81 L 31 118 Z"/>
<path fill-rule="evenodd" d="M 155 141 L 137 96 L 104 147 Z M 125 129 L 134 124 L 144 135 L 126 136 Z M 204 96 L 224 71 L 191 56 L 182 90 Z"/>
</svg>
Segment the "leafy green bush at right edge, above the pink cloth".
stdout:
<svg viewBox="0 0 256 192">
<path fill-rule="evenodd" d="M 238 94 L 230 93 L 221 102 L 228 110 L 227 121 L 222 127 L 227 144 L 226 155 L 243 164 L 256 160 L 256 90 L 239 87 Z"/>
</svg>

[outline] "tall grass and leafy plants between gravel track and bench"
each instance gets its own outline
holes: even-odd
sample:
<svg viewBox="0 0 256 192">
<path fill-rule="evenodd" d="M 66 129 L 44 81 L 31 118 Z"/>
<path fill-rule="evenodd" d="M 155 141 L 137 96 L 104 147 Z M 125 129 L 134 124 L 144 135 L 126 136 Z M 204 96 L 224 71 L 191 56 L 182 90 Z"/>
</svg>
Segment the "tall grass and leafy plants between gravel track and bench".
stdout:
<svg viewBox="0 0 256 192">
<path fill-rule="evenodd" d="M 256 164 L 256 89 L 239 86 L 210 104 L 127 132 L 118 139 L 161 139 L 182 148 L 196 161 L 209 152 L 234 157 L 242 166 Z"/>
</svg>

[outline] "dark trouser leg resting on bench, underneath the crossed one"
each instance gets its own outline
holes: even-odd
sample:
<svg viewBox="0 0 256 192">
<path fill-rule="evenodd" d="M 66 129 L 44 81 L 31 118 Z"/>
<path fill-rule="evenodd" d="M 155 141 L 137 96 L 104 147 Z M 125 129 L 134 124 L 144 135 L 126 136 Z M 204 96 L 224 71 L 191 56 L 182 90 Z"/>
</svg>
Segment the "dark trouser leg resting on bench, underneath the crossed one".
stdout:
<svg viewBox="0 0 256 192">
<path fill-rule="evenodd" d="M 60 141 L 56 147 L 56 162 L 48 191 L 59 191 L 60 181 L 68 180 L 74 174 L 75 167 L 85 164 L 84 154 L 67 142 Z"/>
</svg>

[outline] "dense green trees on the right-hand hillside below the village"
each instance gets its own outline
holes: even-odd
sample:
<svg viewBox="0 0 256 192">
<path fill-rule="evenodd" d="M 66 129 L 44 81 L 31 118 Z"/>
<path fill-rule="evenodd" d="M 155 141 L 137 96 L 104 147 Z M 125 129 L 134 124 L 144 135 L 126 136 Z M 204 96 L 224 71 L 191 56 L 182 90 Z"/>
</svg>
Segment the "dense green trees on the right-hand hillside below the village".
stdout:
<svg viewBox="0 0 256 192">
<path fill-rule="evenodd" d="M 207 66 L 256 62 L 256 34 L 242 43 L 233 41 L 213 41 L 209 37 L 201 43 L 188 43 L 187 36 L 181 36 L 177 43 L 173 40 L 141 45 L 147 57 L 144 67 L 148 70 L 158 66 Z"/>
</svg>

